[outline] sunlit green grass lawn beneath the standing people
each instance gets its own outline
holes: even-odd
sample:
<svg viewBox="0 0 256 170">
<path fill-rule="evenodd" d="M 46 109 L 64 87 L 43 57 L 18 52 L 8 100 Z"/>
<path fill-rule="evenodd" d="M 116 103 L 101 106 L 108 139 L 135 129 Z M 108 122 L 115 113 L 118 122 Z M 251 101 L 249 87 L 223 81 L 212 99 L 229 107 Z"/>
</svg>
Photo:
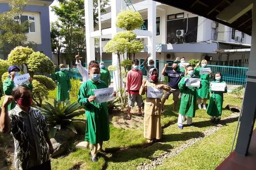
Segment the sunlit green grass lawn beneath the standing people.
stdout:
<svg viewBox="0 0 256 170">
<path fill-rule="evenodd" d="M 224 107 L 227 104 L 241 105 L 242 102 L 240 99 L 230 94 L 225 94 L 224 98 Z M 75 99 L 72 100 L 75 101 Z M 51 103 L 51 100 L 48 101 Z M 179 147 L 181 144 L 185 143 L 186 140 L 200 137 L 203 131 L 213 126 L 206 112 L 204 110 L 197 110 L 196 117 L 193 118 L 196 127 L 184 127 L 183 130 L 179 130 L 176 124 L 178 111 L 172 110 L 172 104 L 172 99 L 169 98 L 165 104 L 165 111 L 161 115 L 163 130 L 160 142 L 152 145 L 146 144 L 146 140 L 143 138 L 143 118 L 136 119 L 137 122 L 135 123 L 139 126 L 134 128 L 122 128 L 117 126 L 114 122 L 123 118 L 123 116 L 116 115 L 110 121 L 110 140 L 103 143 L 103 149 L 106 150 L 106 153 L 99 154 L 99 161 L 97 163 L 91 162 L 89 149 L 76 150 L 73 145 L 66 155 L 51 160 L 52 169 L 136 169 L 136 167 L 142 163 L 149 163 L 150 160 L 153 160 L 162 153 Z M 179 103 L 177 108 L 179 108 Z M 231 112 L 229 110 L 224 109 L 222 117 L 228 117 L 230 114 Z M 84 116 L 80 116 L 79 118 L 81 117 Z M 135 121 L 135 118 L 136 117 L 134 117 L 134 120 L 132 118 L 132 120 Z M 127 123 L 126 120 L 125 123 Z M 187 154 L 188 157 L 193 156 L 194 160 L 199 160 L 197 162 L 192 161 L 192 165 L 190 165 L 192 167 L 191 169 L 204 167 L 206 169 L 215 168 L 229 154 L 230 144 L 227 143 L 233 139 L 236 123 L 237 122 L 227 124 L 210 137 L 206 137 L 192 147 L 184 150 L 179 155 Z M 79 141 L 83 141 L 83 138 L 82 140 L 79 139 Z M 218 143 L 214 141 L 218 141 Z M 75 141 L 75 143 L 77 142 L 78 141 Z M 200 145 L 202 142 L 204 143 Z M 209 147 L 207 143 L 215 145 Z M 194 147 L 197 147 L 197 149 L 189 150 Z M 210 150 L 209 152 L 209 148 L 213 148 L 213 151 Z M 183 160 L 178 156 L 176 156 L 177 158 L 173 157 L 172 159 L 168 159 L 168 161 L 164 163 L 164 165 L 159 166 L 159 168 L 170 169 L 169 165 L 172 164 L 172 162 L 173 167 L 176 166 L 176 164 L 177 166 L 183 165 Z M 188 157 L 185 160 L 189 160 Z M 212 161 L 207 162 L 202 159 L 202 157 L 206 157 L 207 159 L 213 157 L 214 163 Z M 204 161 L 205 165 L 197 166 L 197 164 L 202 164 Z M 181 167 L 177 169 L 180 168 Z M 189 167 L 185 167 L 185 169 L 186 168 Z"/>
</svg>

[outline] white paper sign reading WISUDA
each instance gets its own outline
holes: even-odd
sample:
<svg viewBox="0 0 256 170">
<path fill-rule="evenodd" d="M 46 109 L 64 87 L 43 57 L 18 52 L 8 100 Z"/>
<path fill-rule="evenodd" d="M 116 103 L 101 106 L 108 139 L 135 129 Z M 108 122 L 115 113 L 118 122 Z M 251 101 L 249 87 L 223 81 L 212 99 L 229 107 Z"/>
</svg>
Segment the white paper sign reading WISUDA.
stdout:
<svg viewBox="0 0 256 170">
<path fill-rule="evenodd" d="M 104 103 L 108 101 L 114 100 L 114 88 L 103 88 L 103 89 L 95 89 L 94 94 L 96 96 L 95 102 Z"/>
</svg>

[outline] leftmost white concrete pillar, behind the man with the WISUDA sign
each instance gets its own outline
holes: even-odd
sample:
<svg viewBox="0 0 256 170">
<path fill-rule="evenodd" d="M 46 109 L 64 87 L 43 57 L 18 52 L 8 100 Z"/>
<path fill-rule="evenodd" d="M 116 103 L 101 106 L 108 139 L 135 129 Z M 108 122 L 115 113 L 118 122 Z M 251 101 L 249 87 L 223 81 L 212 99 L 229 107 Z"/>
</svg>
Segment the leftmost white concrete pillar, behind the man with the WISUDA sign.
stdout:
<svg viewBox="0 0 256 170">
<path fill-rule="evenodd" d="M 86 33 L 86 56 L 87 64 L 95 60 L 95 43 L 90 33 L 94 31 L 94 9 L 92 0 L 85 1 L 85 33 Z"/>
</svg>

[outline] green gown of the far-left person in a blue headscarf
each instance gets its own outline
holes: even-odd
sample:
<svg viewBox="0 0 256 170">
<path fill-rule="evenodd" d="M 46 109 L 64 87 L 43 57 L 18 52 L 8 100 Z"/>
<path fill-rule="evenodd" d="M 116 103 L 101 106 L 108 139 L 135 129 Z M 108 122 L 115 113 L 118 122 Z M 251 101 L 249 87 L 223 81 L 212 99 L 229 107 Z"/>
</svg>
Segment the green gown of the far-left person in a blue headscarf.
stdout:
<svg viewBox="0 0 256 170">
<path fill-rule="evenodd" d="M 28 84 L 28 87 L 32 90 L 33 89 L 33 85 L 32 83 Z M 15 88 L 15 84 L 13 81 L 10 81 L 10 78 L 8 77 L 4 83 L 3 83 L 3 91 L 5 95 L 11 95 L 11 92 L 13 91 L 13 89 Z M 15 101 L 11 102 L 8 105 L 8 111 L 12 110 L 14 107 L 16 106 Z"/>
</svg>

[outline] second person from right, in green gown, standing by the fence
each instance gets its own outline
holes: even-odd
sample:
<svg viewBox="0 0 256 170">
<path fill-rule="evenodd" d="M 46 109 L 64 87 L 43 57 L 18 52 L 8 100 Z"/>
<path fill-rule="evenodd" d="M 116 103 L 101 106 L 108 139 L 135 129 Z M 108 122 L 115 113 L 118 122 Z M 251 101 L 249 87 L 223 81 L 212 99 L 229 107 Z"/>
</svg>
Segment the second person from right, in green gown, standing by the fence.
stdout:
<svg viewBox="0 0 256 170">
<path fill-rule="evenodd" d="M 201 100 L 203 99 L 203 109 L 206 110 L 206 101 L 210 98 L 209 86 L 212 71 L 210 67 L 207 67 L 207 60 L 203 59 L 201 63 L 202 67 L 196 69 L 196 74 L 200 76 L 202 83 L 202 88 L 197 89 L 197 104 L 198 108 L 202 109 Z"/>
</svg>

